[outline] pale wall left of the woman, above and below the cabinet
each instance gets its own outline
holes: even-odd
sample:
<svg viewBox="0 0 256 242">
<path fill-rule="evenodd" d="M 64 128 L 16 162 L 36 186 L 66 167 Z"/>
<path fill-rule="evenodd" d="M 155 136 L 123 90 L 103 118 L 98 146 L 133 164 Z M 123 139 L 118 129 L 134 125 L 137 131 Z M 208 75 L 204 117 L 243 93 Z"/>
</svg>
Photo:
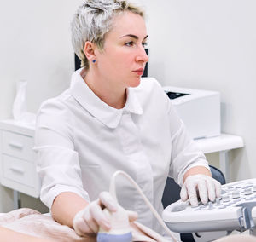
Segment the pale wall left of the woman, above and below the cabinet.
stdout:
<svg viewBox="0 0 256 242">
<path fill-rule="evenodd" d="M 0 118 L 11 118 L 15 84 L 26 79 L 27 106 L 69 85 L 73 72 L 70 21 L 81 0 L 0 1 Z M 9 189 L 0 187 L 0 212 L 12 209 Z M 44 211 L 38 199 L 21 194 L 23 206 Z"/>
</svg>

